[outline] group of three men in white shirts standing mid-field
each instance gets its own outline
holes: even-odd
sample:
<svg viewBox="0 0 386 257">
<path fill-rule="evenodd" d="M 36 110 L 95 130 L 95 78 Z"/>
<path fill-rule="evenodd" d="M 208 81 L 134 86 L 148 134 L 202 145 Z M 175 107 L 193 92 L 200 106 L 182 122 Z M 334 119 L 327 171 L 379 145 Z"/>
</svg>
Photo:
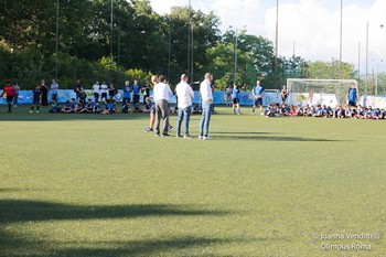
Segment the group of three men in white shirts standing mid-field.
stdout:
<svg viewBox="0 0 386 257">
<path fill-rule="evenodd" d="M 181 75 L 181 82 L 175 87 L 175 96 L 178 98 L 179 116 L 176 121 L 176 138 L 191 139 L 190 135 L 190 117 L 192 114 L 192 99 L 194 93 L 192 87 L 187 84 L 187 75 Z M 199 129 L 199 139 L 210 140 L 208 130 L 213 109 L 213 90 L 212 90 L 212 74 L 206 73 L 204 81 L 200 84 L 200 94 L 202 98 L 202 116 Z M 170 86 L 165 83 L 167 77 L 160 75 L 158 82 L 153 81 L 153 99 L 156 111 L 156 136 L 157 137 L 170 137 L 170 122 L 169 122 L 169 98 L 173 94 Z M 163 121 L 161 128 L 161 120 Z M 184 135 L 182 136 L 182 121 L 184 121 Z"/>
</svg>

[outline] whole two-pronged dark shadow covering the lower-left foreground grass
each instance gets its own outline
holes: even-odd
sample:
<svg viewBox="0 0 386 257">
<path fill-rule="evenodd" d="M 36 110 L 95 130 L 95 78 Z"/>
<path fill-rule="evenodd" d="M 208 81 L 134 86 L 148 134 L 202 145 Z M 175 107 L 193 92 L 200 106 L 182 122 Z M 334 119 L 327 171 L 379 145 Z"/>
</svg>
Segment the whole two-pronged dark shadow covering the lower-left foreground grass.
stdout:
<svg viewBox="0 0 386 257">
<path fill-rule="evenodd" d="M 182 235 L 180 237 L 144 240 L 68 242 L 47 240 L 36 235 L 19 234 L 12 223 L 62 219 L 131 218 L 141 216 L 225 215 L 227 212 L 196 210 L 180 205 L 111 205 L 77 206 L 39 201 L 0 201 L 0 256 L 185 256 L 203 254 L 211 246 L 242 242 L 240 239 L 208 238 Z M 154 228 L 156 229 L 156 228 Z M 165 228 L 167 229 L 167 228 Z M 87 232 L 84 232 L 87 234 Z M 244 240 L 243 240 L 244 242 Z M 211 255 L 205 255 L 211 256 Z"/>
</svg>

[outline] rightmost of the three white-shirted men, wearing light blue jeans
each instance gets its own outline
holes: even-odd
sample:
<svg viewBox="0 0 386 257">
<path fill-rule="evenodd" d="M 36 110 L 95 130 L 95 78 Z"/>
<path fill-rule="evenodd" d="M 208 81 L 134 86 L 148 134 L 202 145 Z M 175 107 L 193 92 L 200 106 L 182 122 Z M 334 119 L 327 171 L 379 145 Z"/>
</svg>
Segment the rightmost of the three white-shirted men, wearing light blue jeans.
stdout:
<svg viewBox="0 0 386 257">
<path fill-rule="evenodd" d="M 212 74 L 206 73 L 205 79 L 200 84 L 200 94 L 202 98 L 202 116 L 200 121 L 200 136 L 199 139 L 210 140 L 210 122 L 213 108 L 213 94 L 211 87 Z"/>
</svg>

